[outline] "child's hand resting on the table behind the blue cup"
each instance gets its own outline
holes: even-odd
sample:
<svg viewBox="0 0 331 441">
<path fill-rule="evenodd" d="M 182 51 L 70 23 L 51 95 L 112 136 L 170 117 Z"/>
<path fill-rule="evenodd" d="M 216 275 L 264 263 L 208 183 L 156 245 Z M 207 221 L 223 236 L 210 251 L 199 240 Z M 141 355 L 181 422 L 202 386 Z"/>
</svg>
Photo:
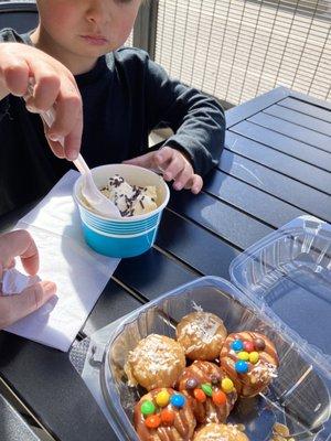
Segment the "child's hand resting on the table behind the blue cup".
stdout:
<svg viewBox="0 0 331 441">
<path fill-rule="evenodd" d="M 194 173 L 185 155 L 168 146 L 124 163 L 161 170 L 166 181 L 173 180 L 174 190 L 191 189 L 192 193 L 197 194 L 203 185 L 202 178 Z"/>
</svg>

